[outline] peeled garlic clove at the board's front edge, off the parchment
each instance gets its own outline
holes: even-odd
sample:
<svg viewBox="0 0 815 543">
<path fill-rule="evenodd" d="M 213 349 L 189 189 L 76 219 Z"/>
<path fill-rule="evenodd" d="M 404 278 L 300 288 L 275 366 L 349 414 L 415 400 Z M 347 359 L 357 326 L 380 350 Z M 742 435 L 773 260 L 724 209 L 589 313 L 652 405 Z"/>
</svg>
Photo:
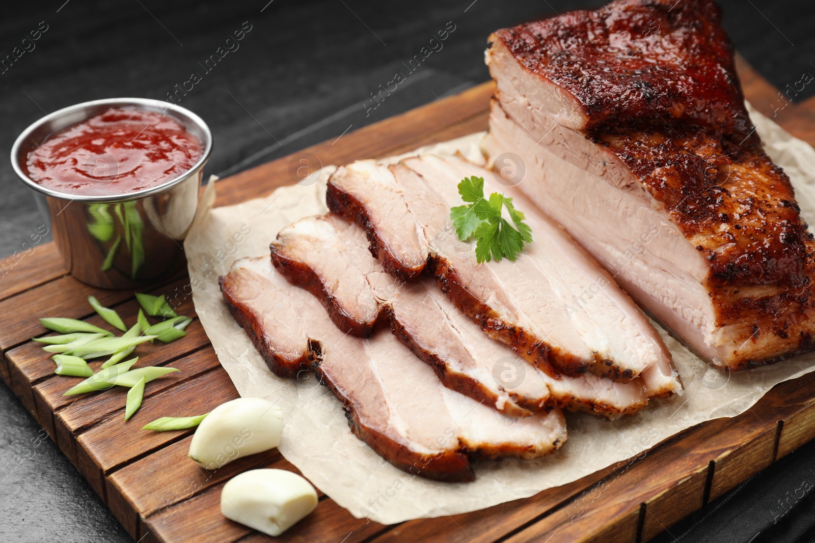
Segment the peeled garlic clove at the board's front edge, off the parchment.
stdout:
<svg viewBox="0 0 815 543">
<path fill-rule="evenodd" d="M 316 506 L 311 483 L 285 470 L 245 471 L 221 491 L 223 516 L 270 536 L 280 536 Z"/>
</svg>

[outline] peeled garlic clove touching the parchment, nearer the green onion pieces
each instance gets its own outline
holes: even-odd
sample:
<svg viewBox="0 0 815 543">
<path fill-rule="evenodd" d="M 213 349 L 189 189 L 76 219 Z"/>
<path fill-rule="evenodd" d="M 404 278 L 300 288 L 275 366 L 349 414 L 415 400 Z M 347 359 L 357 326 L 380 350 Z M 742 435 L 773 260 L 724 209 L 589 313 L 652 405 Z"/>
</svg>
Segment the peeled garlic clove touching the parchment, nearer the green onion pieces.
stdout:
<svg viewBox="0 0 815 543">
<path fill-rule="evenodd" d="M 190 443 L 190 458 L 208 470 L 236 458 L 274 449 L 283 432 L 283 409 L 260 398 L 238 398 L 207 415 Z"/>
</svg>

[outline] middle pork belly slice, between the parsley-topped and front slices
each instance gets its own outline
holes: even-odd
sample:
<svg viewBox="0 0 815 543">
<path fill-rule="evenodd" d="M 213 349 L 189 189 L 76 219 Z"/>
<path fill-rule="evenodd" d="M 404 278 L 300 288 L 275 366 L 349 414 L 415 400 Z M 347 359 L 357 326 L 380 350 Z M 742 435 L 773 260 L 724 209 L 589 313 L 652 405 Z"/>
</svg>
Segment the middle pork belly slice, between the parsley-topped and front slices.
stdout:
<svg viewBox="0 0 815 543">
<path fill-rule="evenodd" d="M 615 417 L 635 413 L 648 401 L 641 378 L 615 383 L 593 374 L 558 379 L 544 374 L 483 334 L 432 278 L 404 283 L 386 274 L 368 252 L 364 230 L 333 213 L 280 230 L 271 254 L 290 282 L 311 291 L 330 315 L 341 315 L 333 320 L 342 330 L 369 328 L 381 318 L 447 388 L 505 414 L 528 416 L 557 407 Z M 351 316 L 360 322 L 349 324 Z"/>
</svg>

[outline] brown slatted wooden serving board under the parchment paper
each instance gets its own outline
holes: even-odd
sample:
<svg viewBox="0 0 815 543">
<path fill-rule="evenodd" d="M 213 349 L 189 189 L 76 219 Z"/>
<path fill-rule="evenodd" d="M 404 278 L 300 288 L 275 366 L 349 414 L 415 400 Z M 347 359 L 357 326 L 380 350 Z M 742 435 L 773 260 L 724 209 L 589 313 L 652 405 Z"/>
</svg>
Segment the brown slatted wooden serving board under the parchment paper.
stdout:
<svg viewBox="0 0 815 543">
<path fill-rule="evenodd" d="M 773 118 L 785 103 L 778 91 L 742 59 L 738 70 L 747 98 Z M 410 151 L 487 128 L 491 83 L 369 125 L 295 154 L 311 153 L 322 164 Z M 815 143 L 815 98 L 778 110 L 774 117 L 795 136 Z M 295 181 L 284 157 L 218 182 L 216 205 L 267 195 Z M 257 467 L 297 471 L 276 450 L 241 458 L 218 471 L 205 471 L 187 458 L 192 431 L 139 430 L 154 418 L 205 413 L 238 396 L 218 363 L 200 322 L 187 337 L 168 345 L 146 344 L 148 365 L 181 370 L 149 383 L 144 405 L 124 423 L 126 391 L 65 398 L 76 382 L 53 374 L 40 344 L 37 317 L 86 319 L 107 326 L 90 310 L 95 295 L 134 322 L 132 291 L 87 287 L 65 274 L 53 243 L 33 254 L 9 258 L 0 281 L 0 375 L 48 435 L 85 475 L 117 519 L 137 541 L 266 541 L 267 536 L 225 519 L 220 493 L 231 476 Z M 188 284 L 181 275 L 144 291 L 170 293 Z M 179 314 L 195 316 L 192 299 Z M 746 480 L 815 438 L 815 373 L 781 383 L 746 413 L 690 428 L 641 454 L 559 488 L 464 515 L 419 519 L 383 526 L 355 519 L 328 497 L 280 541 L 647 541 L 707 501 Z"/>
</svg>

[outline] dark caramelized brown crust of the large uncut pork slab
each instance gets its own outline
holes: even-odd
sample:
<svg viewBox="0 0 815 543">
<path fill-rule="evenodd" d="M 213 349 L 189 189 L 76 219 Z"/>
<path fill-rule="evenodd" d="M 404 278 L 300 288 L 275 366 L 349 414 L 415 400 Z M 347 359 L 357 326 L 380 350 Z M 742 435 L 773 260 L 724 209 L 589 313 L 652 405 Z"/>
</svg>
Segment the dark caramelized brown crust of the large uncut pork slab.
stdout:
<svg viewBox="0 0 815 543">
<path fill-rule="evenodd" d="M 815 348 L 813 234 L 744 106 L 712 0 L 618 0 L 494 33 L 574 97 L 586 138 L 641 180 L 710 273 L 716 326 L 740 370 Z"/>
</svg>

